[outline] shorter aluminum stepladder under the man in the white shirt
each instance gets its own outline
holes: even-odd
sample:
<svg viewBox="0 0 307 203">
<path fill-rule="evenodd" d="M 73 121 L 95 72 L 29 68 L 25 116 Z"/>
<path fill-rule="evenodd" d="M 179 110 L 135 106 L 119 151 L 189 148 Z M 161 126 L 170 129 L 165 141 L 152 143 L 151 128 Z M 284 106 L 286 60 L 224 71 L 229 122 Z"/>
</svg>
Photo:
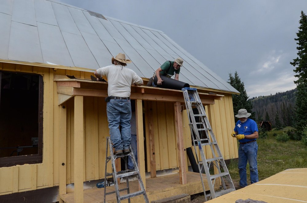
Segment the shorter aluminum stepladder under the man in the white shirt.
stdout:
<svg viewBox="0 0 307 203">
<path fill-rule="evenodd" d="M 146 190 L 144 188 L 144 184 L 143 184 L 143 181 L 142 181 L 141 176 L 140 176 L 140 171 L 139 171 L 139 168 L 137 167 L 137 163 L 136 163 L 135 157 L 133 155 L 131 146 L 130 146 L 130 151 L 131 152 L 128 153 L 128 154 L 113 155 L 111 138 L 107 137 L 107 146 L 106 146 L 106 153 L 105 153 L 106 159 L 105 159 L 105 169 L 104 169 L 104 171 L 105 171 L 105 173 L 104 173 L 104 183 L 105 183 L 104 184 L 104 202 L 105 202 L 105 196 L 106 195 L 115 193 L 117 202 L 120 202 L 121 200 L 124 200 L 124 199 L 128 199 L 128 202 L 130 203 L 131 197 L 136 197 L 138 195 L 143 194 L 145 202 L 149 203 L 148 198 L 147 198 L 147 194 L 146 194 Z M 108 152 L 109 152 L 109 156 L 108 156 Z M 131 156 L 133 166 L 134 166 L 133 170 L 128 170 L 128 166 L 127 166 L 128 156 Z M 125 159 L 125 170 L 116 171 L 115 159 L 117 159 L 117 158 L 124 158 Z M 111 161 L 111 163 L 112 163 L 112 173 L 107 173 L 107 164 L 109 163 L 109 161 Z M 139 181 L 139 186 L 140 186 L 139 188 L 141 190 L 130 193 L 129 176 L 134 176 L 134 175 L 136 176 L 136 178 Z M 109 177 L 109 176 L 112 176 L 112 178 L 113 178 L 115 191 L 106 193 L 107 177 Z M 127 187 L 120 190 L 119 186 L 118 186 L 119 182 L 118 182 L 117 178 L 123 178 L 123 177 L 126 177 Z M 127 194 L 120 196 L 120 192 L 125 191 L 125 190 L 127 190 Z"/>
</svg>

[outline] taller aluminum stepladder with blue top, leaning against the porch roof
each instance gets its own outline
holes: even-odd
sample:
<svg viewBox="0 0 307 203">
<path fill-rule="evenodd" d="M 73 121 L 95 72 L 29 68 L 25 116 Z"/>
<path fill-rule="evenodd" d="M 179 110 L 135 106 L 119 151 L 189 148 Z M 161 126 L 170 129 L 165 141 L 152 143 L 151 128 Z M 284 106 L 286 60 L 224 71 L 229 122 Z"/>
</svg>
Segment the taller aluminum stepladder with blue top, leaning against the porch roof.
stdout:
<svg viewBox="0 0 307 203">
<path fill-rule="evenodd" d="M 197 89 L 186 87 L 182 88 L 182 91 L 190 121 L 189 126 L 191 130 L 191 138 L 193 140 L 200 179 L 203 184 L 205 200 L 207 201 L 207 197 L 208 200 L 210 200 L 235 191 L 234 183 L 232 182 L 229 171 L 218 147 Z M 210 146 L 212 152 L 212 158 L 210 159 L 206 158 L 204 153 L 208 146 Z M 199 152 L 197 149 L 199 149 Z M 209 149 L 207 148 L 207 150 Z M 199 159 L 199 154 L 201 160 Z M 206 174 L 210 189 L 210 193 L 207 195 L 202 178 L 203 171 Z M 219 190 L 215 191 L 214 186 L 217 178 L 220 178 L 222 186 L 219 187 Z"/>
</svg>

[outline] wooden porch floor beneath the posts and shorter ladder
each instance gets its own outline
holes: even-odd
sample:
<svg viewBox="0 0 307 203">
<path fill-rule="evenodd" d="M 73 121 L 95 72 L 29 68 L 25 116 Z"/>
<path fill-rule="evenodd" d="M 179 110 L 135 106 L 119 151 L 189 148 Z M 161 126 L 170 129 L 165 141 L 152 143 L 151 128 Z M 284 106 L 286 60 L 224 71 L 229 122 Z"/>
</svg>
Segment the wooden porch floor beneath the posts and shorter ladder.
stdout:
<svg viewBox="0 0 307 203">
<path fill-rule="evenodd" d="M 206 190 L 207 179 L 206 175 L 203 175 L 204 184 Z M 130 192 L 135 192 L 138 190 L 138 181 L 129 182 Z M 126 183 L 120 184 L 120 189 L 126 187 Z M 114 191 L 114 186 L 107 187 L 107 192 Z M 171 174 L 166 176 L 160 176 L 157 178 L 147 178 L 146 179 L 146 193 L 150 201 L 159 200 L 166 197 L 172 197 L 178 194 L 196 194 L 203 192 L 203 186 L 200 180 L 199 173 L 187 172 L 187 184 L 181 185 L 179 183 L 179 174 Z M 126 194 L 122 192 L 121 195 Z M 67 193 L 61 195 L 61 199 L 65 203 L 74 203 L 73 198 L 74 193 Z M 100 203 L 104 200 L 104 188 L 92 188 L 89 190 L 84 190 L 84 202 L 91 203 Z M 115 203 L 116 197 L 115 194 L 110 194 L 106 196 L 106 201 L 109 203 Z M 121 201 L 128 202 L 128 200 Z M 144 202 L 143 195 L 134 197 L 131 199 L 131 202 Z"/>
</svg>

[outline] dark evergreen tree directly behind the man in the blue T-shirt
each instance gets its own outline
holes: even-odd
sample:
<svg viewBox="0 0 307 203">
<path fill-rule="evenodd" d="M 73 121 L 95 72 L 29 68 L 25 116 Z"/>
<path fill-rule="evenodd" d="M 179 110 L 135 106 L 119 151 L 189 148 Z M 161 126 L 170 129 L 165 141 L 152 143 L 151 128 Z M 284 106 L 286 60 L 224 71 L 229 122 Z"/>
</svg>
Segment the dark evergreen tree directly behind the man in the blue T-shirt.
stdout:
<svg viewBox="0 0 307 203">
<path fill-rule="evenodd" d="M 246 109 L 247 112 L 252 113 L 250 118 L 255 120 L 255 113 L 252 112 L 252 108 L 253 108 L 252 102 L 251 100 L 248 99 L 248 96 L 245 90 L 245 86 L 244 86 L 244 82 L 241 82 L 241 79 L 237 71 L 234 73 L 234 76 L 232 75 L 232 73 L 229 74 L 228 83 L 240 92 L 240 94 L 232 95 L 234 115 L 238 114 L 239 109 Z M 234 119 L 235 121 L 238 121 L 237 117 L 235 117 Z"/>
</svg>

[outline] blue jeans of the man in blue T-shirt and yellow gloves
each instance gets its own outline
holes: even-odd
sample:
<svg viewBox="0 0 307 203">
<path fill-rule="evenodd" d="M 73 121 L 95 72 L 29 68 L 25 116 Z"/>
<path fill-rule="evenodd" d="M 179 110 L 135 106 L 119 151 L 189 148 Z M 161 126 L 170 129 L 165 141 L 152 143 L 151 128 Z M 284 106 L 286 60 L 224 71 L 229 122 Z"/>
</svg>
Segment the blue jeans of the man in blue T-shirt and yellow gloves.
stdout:
<svg viewBox="0 0 307 203">
<path fill-rule="evenodd" d="M 258 182 L 258 167 L 257 167 L 257 152 L 258 144 L 257 142 L 251 142 L 246 144 L 239 144 L 239 175 L 241 187 L 247 186 L 246 180 L 246 165 L 247 161 L 250 164 L 250 183 L 253 184 Z"/>
</svg>

